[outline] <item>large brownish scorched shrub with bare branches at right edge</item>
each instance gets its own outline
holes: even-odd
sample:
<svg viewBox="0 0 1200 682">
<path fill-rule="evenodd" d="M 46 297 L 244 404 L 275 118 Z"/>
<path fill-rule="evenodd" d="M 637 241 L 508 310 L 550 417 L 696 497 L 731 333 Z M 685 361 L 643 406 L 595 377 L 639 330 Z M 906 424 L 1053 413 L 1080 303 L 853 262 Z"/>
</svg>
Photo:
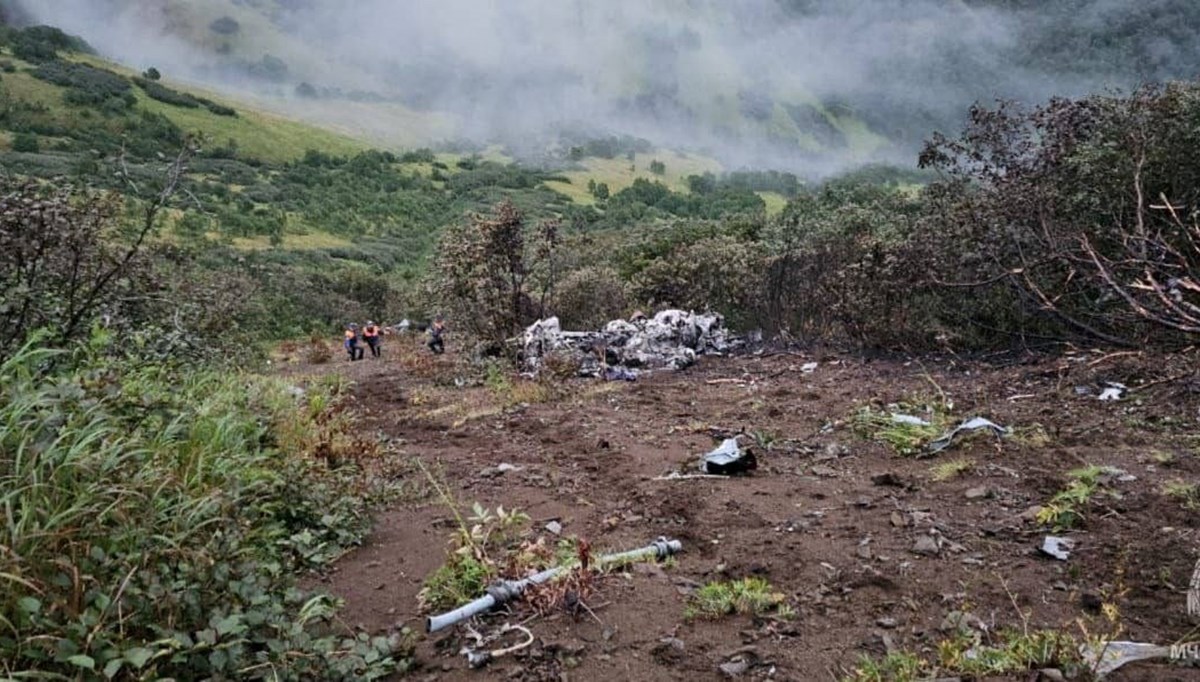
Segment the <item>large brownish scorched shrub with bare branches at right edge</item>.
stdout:
<svg viewBox="0 0 1200 682">
<path fill-rule="evenodd" d="M 922 163 L 947 175 L 942 277 L 1008 289 L 1043 334 L 1120 345 L 1200 335 L 1200 85 L 974 108 Z M 943 239 L 944 240 L 944 239 Z"/>
</svg>

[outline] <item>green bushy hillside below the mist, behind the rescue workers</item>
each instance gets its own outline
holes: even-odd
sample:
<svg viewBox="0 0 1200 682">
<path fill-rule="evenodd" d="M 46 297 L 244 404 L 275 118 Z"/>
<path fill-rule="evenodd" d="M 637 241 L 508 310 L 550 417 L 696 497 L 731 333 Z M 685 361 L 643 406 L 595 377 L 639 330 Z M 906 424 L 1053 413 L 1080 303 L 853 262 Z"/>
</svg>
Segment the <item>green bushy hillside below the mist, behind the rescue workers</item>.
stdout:
<svg viewBox="0 0 1200 682">
<path fill-rule="evenodd" d="M 149 196 L 164 160 L 198 139 L 187 201 L 154 239 L 259 281 L 281 335 L 348 310 L 402 312 L 444 228 L 503 199 L 532 222 L 562 221 L 571 237 L 768 203 L 778 213 L 799 187 L 778 174 L 725 178 L 710 158 L 634 138 L 581 139 L 548 169 L 515 164 L 499 148 L 372 149 L 169 74 L 115 66 L 61 32 L 0 38 L 0 166 Z"/>
</svg>

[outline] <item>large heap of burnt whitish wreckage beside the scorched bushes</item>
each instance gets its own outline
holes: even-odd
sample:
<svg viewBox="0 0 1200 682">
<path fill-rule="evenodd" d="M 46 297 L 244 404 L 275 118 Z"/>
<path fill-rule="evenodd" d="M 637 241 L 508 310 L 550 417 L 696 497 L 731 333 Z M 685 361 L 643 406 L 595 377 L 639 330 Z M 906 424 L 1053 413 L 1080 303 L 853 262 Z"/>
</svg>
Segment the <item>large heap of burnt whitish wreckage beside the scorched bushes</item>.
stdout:
<svg viewBox="0 0 1200 682">
<path fill-rule="evenodd" d="M 601 353 L 610 367 L 682 370 L 697 355 L 724 354 L 745 345 L 728 333 L 720 315 L 682 310 L 664 310 L 649 319 L 614 319 L 600 331 L 563 331 L 558 318 L 550 317 L 526 329 L 522 341 L 526 370 L 538 372 L 547 357 L 557 354 L 588 377 L 601 376 Z"/>
</svg>

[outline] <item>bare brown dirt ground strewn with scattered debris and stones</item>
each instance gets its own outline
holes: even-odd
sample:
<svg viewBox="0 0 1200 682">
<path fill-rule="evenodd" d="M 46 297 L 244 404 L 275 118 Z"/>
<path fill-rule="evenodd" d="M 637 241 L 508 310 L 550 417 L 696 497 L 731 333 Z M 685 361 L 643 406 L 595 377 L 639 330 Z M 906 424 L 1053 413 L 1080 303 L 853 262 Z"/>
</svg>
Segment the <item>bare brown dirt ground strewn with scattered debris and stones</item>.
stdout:
<svg viewBox="0 0 1200 682">
<path fill-rule="evenodd" d="M 1056 628 L 1082 638 L 1084 628 L 1111 629 L 1100 614 L 1111 603 L 1117 639 L 1200 639 L 1186 604 L 1200 512 L 1163 493 L 1168 481 L 1200 480 L 1200 383 L 1178 378 L 1195 360 L 1102 351 L 919 361 L 762 353 L 704 358 L 636 383 L 569 379 L 551 400 L 508 408 L 516 389 L 505 396 L 461 381 L 466 364 L 452 346 L 434 359 L 413 341 L 390 342 L 379 360 L 296 360 L 283 372 L 352 378 L 364 429 L 388 439 L 389 456 L 440 472 L 468 507 L 521 509 L 534 533 L 556 520 L 593 555 L 660 536 L 683 542 L 673 564 L 606 576 L 592 597 L 595 618 L 532 620 L 534 646 L 468 670 L 461 630 L 424 635 L 416 602 L 445 558 L 449 509 L 426 496 L 383 512 L 368 542 L 322 586 L 346 599 L 353 628 L 422 633 L 414 678 L 720 680 L 721 664 L 743 662 L 745 680 L 838 680 L 864 654 L 931 654 L 955 611 L 988 632 Z M 816 370 L 804 372 L 810 361 Z M 1102 381 L 1130 391 L 1102 402 L 1076 388 Z M 916 459 L 851 427 L 865 405 L 914 397 L 949 401 L 955 420 L 982 415 L 1019 436 L 977 436 Z M 695 472 L 718 437 L 743 430 L 772 436 L 769 449 L 756 448 L 751 475 L 658 479 Z M 931 468 L 954 459 L 974 466 L 934 480 Z M 1076 540 L 1068 561 L 1040 555 L 1048 530 L 1032 508 L 1086 465 L 1134 478 L 1114 480 L 1111 493 L 1082 509 L 1081 527 L 1060 533 Z M 751 575 L 784 592 L 796 616 L 683 617 L 700 585 Z M 1200 669 L 1139 664 L 1110 678 L 1200 680 Z"/>
</svg>

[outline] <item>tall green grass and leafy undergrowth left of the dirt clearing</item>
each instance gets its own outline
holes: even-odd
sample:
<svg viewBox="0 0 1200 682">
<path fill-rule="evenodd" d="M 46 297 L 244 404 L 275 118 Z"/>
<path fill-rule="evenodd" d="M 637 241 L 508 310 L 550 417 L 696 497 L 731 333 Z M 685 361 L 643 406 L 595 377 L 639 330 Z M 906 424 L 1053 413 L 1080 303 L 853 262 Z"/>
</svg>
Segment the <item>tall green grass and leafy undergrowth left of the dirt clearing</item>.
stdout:
<svg viewBox="0 0 1200 682">
<path fill-rule="evenodd" d="M 318 636 L 334 605 L 296 590 L 362 536 L 376 492 L 314 456 L 348 438 L 336 406 L 86 349 L 0 365 L 0 677 L 394 669 L 397 640 Z"/>
</svg>

